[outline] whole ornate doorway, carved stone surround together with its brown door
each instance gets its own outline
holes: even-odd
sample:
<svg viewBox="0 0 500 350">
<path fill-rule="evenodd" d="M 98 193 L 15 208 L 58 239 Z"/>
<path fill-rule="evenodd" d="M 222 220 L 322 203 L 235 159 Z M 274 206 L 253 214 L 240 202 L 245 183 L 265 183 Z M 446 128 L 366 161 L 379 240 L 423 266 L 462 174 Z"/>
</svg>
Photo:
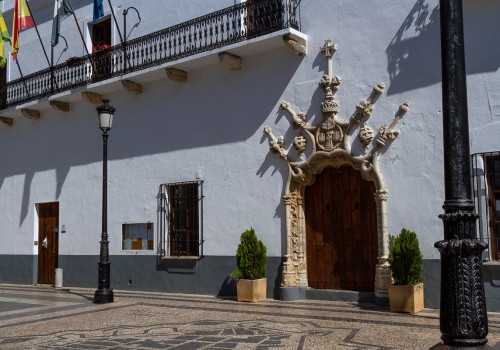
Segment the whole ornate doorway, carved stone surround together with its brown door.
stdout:
<svg viewBox="0 0 500 350">
<path fill-rule="evenodd" d="M 281 293 L 284 300 L 294 300 L 304 297 L 310 287 L 367 290 L 374 291 L 376 301 L 383 304 L 392 277 L 387 262 L 389 193 L 379 159 L 399 135 L 395 128 L 409 102 L 401 104 L 389 126 L 383 124 L 375 134 L 368 118 L 384 91 L 385 85 L 379 83 L 356 105 L 349 120 L 341 118 L 334 97 L 341 83 L 333 75 L 336 50 L 331 40 L 325 40 L 320 50 L 328 63 L 319 81 L 325 94 L 321 123 L 310 123 L 307 113 L 281 102 L 292 127 L 300 129 L 293 139 L 296 157 L 290 157 L 285 137 L 276 137 L 271 127 L 264 127 L 269 149 L 286 161 L 289 170 L 283 196 L 286 253 Z M 331 200 L 325 201 L 328 196 Z"/>
</svg>

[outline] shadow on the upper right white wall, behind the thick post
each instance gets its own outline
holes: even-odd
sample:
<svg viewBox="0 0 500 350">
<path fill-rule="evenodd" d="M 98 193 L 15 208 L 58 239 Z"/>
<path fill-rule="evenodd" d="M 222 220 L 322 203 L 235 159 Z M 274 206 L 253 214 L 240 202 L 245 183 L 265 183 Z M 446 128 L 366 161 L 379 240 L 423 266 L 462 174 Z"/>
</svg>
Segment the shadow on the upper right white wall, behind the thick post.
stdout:
<svg viewBox="0 0 500 350">
<path fill-rule="evenodd" d="M 500 67 L 500 3 L 464 1 L 467 74 L 495 72 Z M 397 94 L 441 82 L 439 6 L 418 0 L 386 49 L 390 87 Z"/>
</svg>

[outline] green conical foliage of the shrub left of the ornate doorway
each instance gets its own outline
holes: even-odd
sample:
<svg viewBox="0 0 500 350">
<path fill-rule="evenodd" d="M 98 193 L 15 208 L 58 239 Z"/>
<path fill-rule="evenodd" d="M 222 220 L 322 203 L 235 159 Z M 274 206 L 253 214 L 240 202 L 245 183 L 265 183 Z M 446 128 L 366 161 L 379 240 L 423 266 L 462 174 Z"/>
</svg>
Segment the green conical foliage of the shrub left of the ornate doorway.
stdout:
<svg viewBox="0 0 500 350">
<path fill-rule="evenodd" d="M 241 234 L 236 251 L 236 271 L 231 277 L 259 279 L 266 277 L 266 246 L 257 238 L 253 228 Z"/>
</svg>

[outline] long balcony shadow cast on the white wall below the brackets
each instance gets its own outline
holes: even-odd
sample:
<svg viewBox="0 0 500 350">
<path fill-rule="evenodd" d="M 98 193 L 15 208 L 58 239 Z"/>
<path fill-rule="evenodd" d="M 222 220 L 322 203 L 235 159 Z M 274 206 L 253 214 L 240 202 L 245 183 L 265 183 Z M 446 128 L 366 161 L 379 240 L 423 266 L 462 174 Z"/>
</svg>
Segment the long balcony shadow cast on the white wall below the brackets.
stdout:
<svg viewBox="0 0 500 350">
<path fill-rule="evenodd" d="M 190 72 L 186 85 L 158 81 L 133 99 L 121 93 L 110 96 L 117 111 L 109 140 L 109 162 L 199 149 L 191 153 L 195 162 L 214 157 L 208 147 L 249 140 L 273 113 L 300 65 L 301 60 L 291 59 L 291 55 L 287 48 L 274 50 L 248 57 L 245 69 L 238 72 L 215 65 Z M 95 106 L 72 104 L 71 118 L 53 113 L 36 124 L 16 120 L 13 128 L 2 133 L 0 158 L 5 165 L 0 169 L 0 189 L 6 179 L 24 175 L 21 226 L 39 173 L 56 173 L 55 198 L 50 200 L 58 200 L 73 167 L 97 164 L 89 167 L 86 175 L 92 180 L 100 178 L 102 137 Z M 164 158 L 158 159 L 159 166 Z M 87 185 L 84 183 L 81 190 Z"/>
</svg>

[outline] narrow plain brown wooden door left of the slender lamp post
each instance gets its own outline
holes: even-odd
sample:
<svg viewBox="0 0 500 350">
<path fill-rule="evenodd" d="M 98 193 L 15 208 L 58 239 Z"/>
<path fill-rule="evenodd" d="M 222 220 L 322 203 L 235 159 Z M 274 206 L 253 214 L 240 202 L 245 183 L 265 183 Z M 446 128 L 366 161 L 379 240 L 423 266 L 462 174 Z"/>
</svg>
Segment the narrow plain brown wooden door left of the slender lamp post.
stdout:
<svg viewBox="0 0 500 350">
<path fill-rule="evenodd" d="M 54 284 L 59 255 L 59 203 L 38 204 L 38 280 Z"/>
</svg>

